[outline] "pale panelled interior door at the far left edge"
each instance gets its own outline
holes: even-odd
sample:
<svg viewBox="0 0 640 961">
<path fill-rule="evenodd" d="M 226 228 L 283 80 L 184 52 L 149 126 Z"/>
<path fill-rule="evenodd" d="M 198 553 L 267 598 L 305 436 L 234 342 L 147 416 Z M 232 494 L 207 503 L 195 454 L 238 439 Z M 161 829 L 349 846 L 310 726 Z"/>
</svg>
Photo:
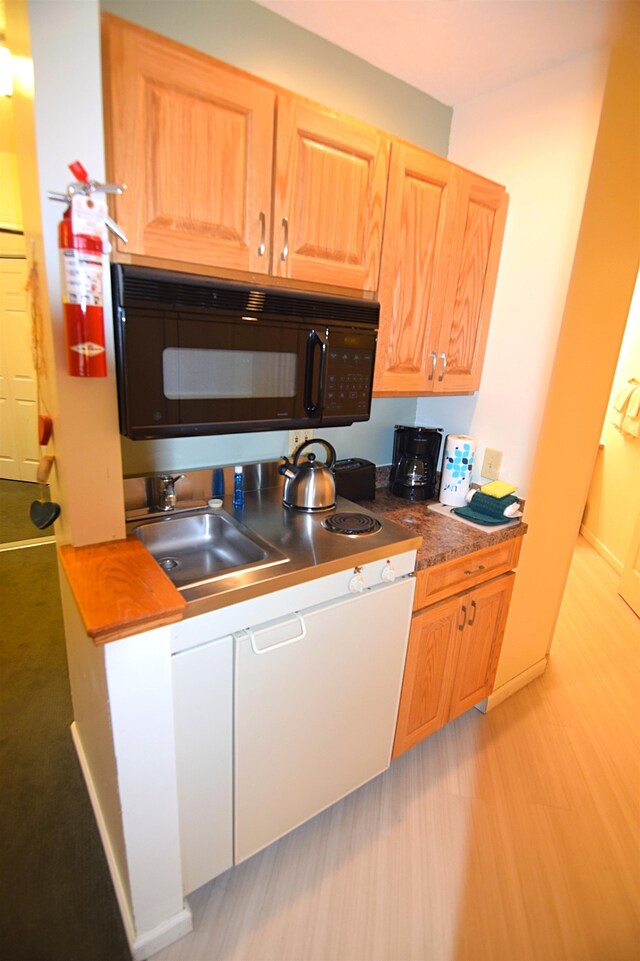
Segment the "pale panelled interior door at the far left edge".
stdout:
<svg viewBox="0 0 640 961">
<path fill-rule="evenodd" d="M 0 477 L 35 481 L 40 460 L 27 262 L 0 259 Z"/>
</svg>

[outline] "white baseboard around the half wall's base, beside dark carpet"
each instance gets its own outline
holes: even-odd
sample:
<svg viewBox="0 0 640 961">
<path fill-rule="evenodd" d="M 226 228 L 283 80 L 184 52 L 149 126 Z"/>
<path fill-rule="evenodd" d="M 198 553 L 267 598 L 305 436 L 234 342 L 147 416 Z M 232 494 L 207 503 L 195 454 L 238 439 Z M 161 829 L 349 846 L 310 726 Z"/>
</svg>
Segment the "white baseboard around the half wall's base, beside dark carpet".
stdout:
<svg viewBox="0 0 640 961">
<path fill-rule="evenodd" d="M 113 848 L 111 847 L 111 839 L 109 838 L 109 832 L 107 831 L 107 826 L 102 816 L 102 809 L 100 808 L 98 795 L 93 784 L 93 778 L 91 777 L 91 771 L 87 763 L 87 758 L 82 747 L 82 741 L 80 739 L 75 721 L 71 724 L 71 737 L 73 738 L 76 754 L 78 755 L 84 781 L 87 786 L 89 799 L 91 800 L 93 814 L 96 819 L 96 824 L 98 825 L 100 840 L 102 841 L 102 847 L 104 848 L 104 853 L 107 858 L 107 865 L 109 867 L 109 873 L 111 874 L 111 880 L 116 893 L 118 907 L 120 908 L 125 934 L 127 936 L 127 941 L 129 942 L 131 956 L 133 961 L 146 961 L 146 958 L 150 957 L 152 954 L 155 954 L 157 951 L 160 951 L 168 944 L 172 944 L 174 941 L 177 941 L 178 938 L 184 937 L 185 934 L 188 934 L 193 929 L 191 909 L 187 904 L 184 904 L 182 911 L 170 918 L 167 918 L 166 921 L 163 921 L 162 924 L 157 925 L 151 931 L 145 931 L 143 934 L 136 933 L 133 915 L 131 913 L 131 906 L 129 904 L 129 897 L 127 894 L 127 887 L 122 880 L 120 871 L 118 869 L 118 863 L 113 853 Z"/>
</svg>

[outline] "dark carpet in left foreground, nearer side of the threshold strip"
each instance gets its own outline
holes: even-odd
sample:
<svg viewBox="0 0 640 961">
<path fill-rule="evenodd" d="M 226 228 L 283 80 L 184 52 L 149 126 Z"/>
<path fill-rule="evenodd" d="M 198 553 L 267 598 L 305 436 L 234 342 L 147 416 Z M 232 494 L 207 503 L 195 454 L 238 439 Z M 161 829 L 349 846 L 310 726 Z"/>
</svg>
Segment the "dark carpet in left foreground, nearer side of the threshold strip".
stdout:
<svg viewBox="0 0 640 961">
<path fill-rule="evenodd" d="M 71 740 L 55 546 L 0 552 L 0 954 L 130 961 Z"/>
</svg>

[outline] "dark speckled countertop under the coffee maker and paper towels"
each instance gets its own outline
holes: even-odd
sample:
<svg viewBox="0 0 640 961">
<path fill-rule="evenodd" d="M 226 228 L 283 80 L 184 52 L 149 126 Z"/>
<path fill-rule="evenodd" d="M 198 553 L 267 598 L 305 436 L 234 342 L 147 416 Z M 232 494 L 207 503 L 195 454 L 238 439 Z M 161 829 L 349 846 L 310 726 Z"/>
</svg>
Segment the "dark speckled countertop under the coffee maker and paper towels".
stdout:
<svg viewBox="0 0 640 961">
<path fill-rule="evenodd" d="M 376 482 L 380 483 L 378 477 Z M 422 536 L 416 570 L 481 551 L 485 547 L 511 540 L 512 537 L 522 537 L 527 531 L 527 525 L 522 522 L 499 531 L 490 527 L 471 527 L 452 517 L 430 511 L 427 504 L 437 501 L 407 501 L 396 497 L 386 486 L 376 487 L 375 500 L 360 503 L 367 510 L 382 514 L 390 521 Z"/>
</svg>

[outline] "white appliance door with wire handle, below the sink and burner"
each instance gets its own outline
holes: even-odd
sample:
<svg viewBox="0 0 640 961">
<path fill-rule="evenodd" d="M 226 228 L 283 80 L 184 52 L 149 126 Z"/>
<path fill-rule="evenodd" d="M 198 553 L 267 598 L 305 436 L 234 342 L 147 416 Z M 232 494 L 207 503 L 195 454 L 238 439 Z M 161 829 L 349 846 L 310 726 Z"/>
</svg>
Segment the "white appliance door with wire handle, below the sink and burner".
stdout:
<svg viewBox="0 0 640 961">
<path fill-rule="evenodd" d="M 235 636 L 235 863 L 384 771 L 415 581 Z"/>
</svg>

